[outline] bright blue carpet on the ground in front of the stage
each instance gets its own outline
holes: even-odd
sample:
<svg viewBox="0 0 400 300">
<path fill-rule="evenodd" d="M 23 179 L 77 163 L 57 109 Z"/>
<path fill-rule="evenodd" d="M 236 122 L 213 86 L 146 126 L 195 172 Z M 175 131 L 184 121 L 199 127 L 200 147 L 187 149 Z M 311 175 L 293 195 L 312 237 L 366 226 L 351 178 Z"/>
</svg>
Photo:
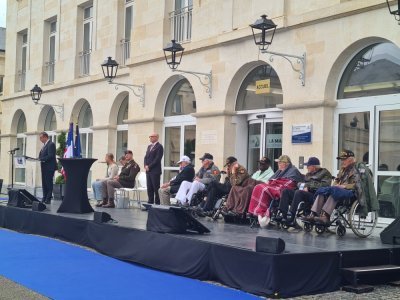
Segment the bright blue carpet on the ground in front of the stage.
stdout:
<svg viewBox="0 0 400 300">
<path fill-rule="evenodd" d="M 53 299 L 256 298 L 57 240 L 3 229 L 0 229 L 0 274 Z"/>
</svg>

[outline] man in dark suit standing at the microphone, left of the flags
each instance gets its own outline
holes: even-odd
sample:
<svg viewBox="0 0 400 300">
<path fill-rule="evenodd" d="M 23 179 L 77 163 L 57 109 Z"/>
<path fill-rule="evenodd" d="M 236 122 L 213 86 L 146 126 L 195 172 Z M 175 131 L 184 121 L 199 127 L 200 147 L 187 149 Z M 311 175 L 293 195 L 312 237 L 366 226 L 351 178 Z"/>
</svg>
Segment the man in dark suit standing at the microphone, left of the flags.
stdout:
<svg viewBox="0 0 400 300">
<path fill-rule="evenodd" d="M 57 170 L 56 145 L 49 140 L 49 135 L 46 132 L 41 132 L 39 139 L 43 143 L 43 147 L 39 152 L 40 168 L 42 170 L 42 201 L 50 204 L 53 194 L 54 172 Z"/>
</svg>

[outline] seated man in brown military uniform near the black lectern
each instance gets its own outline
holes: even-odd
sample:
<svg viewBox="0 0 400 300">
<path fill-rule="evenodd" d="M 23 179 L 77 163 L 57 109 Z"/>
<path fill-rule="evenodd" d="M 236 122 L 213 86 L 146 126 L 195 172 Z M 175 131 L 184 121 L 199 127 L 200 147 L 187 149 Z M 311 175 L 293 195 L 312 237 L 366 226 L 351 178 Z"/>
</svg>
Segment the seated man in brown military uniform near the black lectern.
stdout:
<svg viewBox="0 0 400 300">
<path fill-rule="evenodd" d="M 131 150 L 125 151 L 125 165 L 122 167 L 121 173 L 111 180 L 103 182 L 103 202 L 98 207 L 114 208 L 114 193 L 115 189 L 133 188 L 135 187 L 136 175 L 140 172 L 139 165 L 133 160 Z"/>
</svg>

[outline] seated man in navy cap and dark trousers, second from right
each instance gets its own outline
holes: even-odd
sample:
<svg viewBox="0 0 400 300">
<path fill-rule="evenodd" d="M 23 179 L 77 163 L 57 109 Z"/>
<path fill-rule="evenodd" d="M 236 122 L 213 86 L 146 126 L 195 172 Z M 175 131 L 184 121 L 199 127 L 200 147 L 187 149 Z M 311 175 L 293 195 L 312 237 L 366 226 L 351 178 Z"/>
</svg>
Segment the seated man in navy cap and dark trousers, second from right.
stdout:
<svg viewBox="0 0 400 300">
<path fill-rule="evenodd" d="M 292 224 L 296 216 L 296 211 L 301 202 L 313 203 L 314 193 L 320 187 L 330 186 L 332 174 L 325 168 L 321 168 L 319 159 L 310 157 L 304 164 L 307 166 L 307 174 L 303 182 L 297 183 L 298 190 L 284 189 L 281 192 L 281 200 L 279 201 L 280 216 L 275 219 L 284 221 L 287 224 Z M 290 205 L 290 215 L 288 215 Z"/>
</svg>

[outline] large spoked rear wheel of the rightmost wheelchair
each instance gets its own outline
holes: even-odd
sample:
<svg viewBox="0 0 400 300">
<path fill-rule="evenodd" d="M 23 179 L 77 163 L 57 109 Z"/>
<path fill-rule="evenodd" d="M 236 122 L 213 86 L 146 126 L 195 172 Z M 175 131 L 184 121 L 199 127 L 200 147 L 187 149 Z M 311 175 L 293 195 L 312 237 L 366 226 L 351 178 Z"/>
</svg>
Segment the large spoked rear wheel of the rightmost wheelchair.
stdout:
<svg viewBox="0 0 400 300">
<path fill-rule="evenodd" d="M 354 201 L 349 212 L 349 224 L 356 236 L 365 238 L 375 229 L 378 222 L 378 212 L 372 211 L 367 217 L 363 217 L 360 216 L 360 210 L 360 203 Z"/>
</svg>

